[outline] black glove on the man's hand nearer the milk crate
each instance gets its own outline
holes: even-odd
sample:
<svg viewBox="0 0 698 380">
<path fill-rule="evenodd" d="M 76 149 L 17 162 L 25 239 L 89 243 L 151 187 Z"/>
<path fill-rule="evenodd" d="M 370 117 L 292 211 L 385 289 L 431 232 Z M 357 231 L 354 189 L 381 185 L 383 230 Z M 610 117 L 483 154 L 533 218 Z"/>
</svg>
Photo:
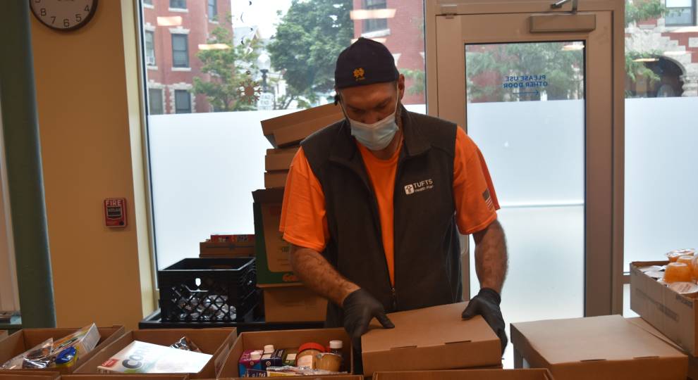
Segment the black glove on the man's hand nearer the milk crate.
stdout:
<svg viewBox="0 0 698 380">
<path fill-rule="evenodd" d="M 386 329 L 393 329 L 395 325 L 386 317 L 383 305 L 376 300 L 371 293 L 359 289 L 344 298 L 344 329 L 349 334 L 354 348 L 361 352 L 361 336 L 368 331 L 371 319 L 376 317 Z"/>
</svg>

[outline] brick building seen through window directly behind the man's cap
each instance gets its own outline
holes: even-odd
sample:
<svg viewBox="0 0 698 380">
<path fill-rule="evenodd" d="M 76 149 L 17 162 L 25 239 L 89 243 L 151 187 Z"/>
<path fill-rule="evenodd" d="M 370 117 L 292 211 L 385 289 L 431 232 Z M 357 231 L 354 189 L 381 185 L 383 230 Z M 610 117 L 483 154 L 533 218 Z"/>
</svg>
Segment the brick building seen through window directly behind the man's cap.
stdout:
<svg viewBox="0 0 698 380">
<path fill-rule="evenodd" d="M 352 13 L 354 38 L 366 37 L 382 42 L 393 53 L 398 70 L 420 72 L 424 78 L 424 1 L 423 0 L 353 0 L 353 9 L 374 13 Z M 382 11 L 381 11 L 382 10 Z M 393 13 L 394 11 L 394 13 Z M 379 13 L 382 12 L 382 13 Z M 366 18 L 387 15 L 386 18 Z M 419 87 L 423 86 L 416 84 Z M 408 92 L 403 104 L 426 103 L 424 91 L 409 94 L 415 81 L 406 81 Z"/>
</svg>

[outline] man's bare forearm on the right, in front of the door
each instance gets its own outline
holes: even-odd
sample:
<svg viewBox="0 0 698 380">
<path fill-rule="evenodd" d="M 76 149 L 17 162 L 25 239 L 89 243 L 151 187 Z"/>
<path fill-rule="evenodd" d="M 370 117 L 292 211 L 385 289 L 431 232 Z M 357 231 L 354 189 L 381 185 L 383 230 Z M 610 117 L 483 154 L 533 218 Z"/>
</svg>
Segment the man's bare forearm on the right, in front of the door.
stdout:
<svg viewBox="0 0 698 380">
<path fill-rule="evenodd" d="M 501 293 L 508 269 L 504 230 L 497 220 L 473 234 L 475 239 L 475 272 L 481 288 Z"/>
</svg>

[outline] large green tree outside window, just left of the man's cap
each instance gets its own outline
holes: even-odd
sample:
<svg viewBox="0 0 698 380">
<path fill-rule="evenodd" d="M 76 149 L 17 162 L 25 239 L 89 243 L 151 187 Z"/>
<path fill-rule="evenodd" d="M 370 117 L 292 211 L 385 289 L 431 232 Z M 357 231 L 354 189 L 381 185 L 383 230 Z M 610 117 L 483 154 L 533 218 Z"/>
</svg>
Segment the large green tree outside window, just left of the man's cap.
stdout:
<svg viewBox="0 0 698 380">
<path fill-rule="evenodd" d="M 287 84 L 277 108 L 293 101 L 310 107 L 333 89 L 336 58 L 354 35 L 351 8 L 351 0 L 293 0 L 267 46 L 272 68 Z"/>
</svg>

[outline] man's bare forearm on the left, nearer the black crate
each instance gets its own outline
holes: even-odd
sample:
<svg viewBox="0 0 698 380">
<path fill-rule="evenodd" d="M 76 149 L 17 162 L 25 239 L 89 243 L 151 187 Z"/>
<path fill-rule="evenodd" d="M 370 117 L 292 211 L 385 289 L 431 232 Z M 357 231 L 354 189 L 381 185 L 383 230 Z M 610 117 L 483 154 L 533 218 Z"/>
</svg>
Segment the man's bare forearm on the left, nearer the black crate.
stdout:
<svg viewBox="0 0 698 380">
<path fill-rule="evenodd" d="M 310 248 L 291 246 L 290 261 L 300 281 L 337 305 L 359 286 L 342 277 L 322 255 Z"/>
</svg>

